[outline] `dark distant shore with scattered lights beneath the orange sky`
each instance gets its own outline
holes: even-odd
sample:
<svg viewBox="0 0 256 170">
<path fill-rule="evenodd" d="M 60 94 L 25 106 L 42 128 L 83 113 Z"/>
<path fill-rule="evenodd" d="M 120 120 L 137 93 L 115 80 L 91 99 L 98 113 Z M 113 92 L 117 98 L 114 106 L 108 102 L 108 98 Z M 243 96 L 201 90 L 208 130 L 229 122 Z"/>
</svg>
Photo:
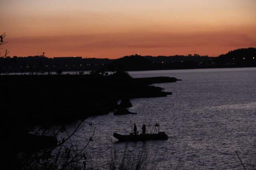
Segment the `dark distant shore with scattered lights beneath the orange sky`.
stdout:
<svg viewBox="0 0 256 170">
<path fill-rule="evenodd" d="M 194 55 L 140 56 L 130 55 L 119 59 L 82 57 L 54 57 L 44 55 L 0 58 L 0 73 L 29 72 L 40 74 L 52 71 L 138 71 L 161 69 L 199 69 L 225 67 L 255 67 L 256 49 L 236 49 L 219 57 Z"/>
</svg>

